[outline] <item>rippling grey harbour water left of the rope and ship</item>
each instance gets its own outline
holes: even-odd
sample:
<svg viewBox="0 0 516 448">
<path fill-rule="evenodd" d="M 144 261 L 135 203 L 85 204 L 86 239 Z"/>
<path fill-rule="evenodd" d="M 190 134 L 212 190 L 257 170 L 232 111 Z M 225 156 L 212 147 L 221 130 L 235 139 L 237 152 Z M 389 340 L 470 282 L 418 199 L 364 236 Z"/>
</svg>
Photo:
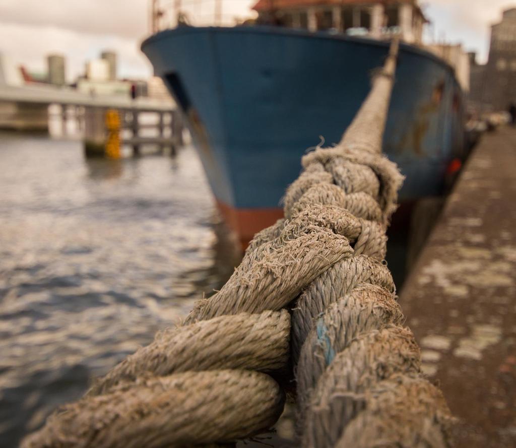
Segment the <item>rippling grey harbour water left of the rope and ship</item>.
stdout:
<svg viewBox="0 0 516 448">
<path fill-rule="evenodd" d="M 220 287 L 218 219 L 191 148 L 86 161 L 79 141 L 0 134 L 0 445 Z"/>
</svg>

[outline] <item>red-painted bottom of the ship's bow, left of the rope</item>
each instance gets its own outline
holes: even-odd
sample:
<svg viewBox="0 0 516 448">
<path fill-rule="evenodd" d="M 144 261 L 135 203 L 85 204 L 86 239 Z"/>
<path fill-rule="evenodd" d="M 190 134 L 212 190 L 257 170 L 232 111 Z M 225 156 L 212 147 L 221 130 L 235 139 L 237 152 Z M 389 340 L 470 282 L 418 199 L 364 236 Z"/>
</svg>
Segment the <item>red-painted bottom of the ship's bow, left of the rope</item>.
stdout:
<svg viewBox="0 0 516 448">
<path fill-rule="evenodd" d="M 283 218 L 283 209 L 235 209 L 217 200 L 217 207 L 228 227 L 236 233 L 245 249 L 254 235 L 266 227 L 272 226 Z"/>
</svg>

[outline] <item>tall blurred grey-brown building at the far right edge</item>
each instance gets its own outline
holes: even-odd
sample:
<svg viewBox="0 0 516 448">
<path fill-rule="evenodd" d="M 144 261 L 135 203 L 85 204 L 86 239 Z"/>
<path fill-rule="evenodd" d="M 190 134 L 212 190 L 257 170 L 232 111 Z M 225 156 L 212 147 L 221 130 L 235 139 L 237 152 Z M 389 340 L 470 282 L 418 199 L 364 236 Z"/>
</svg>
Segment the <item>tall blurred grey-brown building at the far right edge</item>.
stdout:
<svg viewBox="0 0 516 448">
<path fill-rule="evenodd" d="M 491 26 L 491 46 L 481 102 L 501 110 L 516 104 L 516 8 L 503 12 Z"/>
</svg>

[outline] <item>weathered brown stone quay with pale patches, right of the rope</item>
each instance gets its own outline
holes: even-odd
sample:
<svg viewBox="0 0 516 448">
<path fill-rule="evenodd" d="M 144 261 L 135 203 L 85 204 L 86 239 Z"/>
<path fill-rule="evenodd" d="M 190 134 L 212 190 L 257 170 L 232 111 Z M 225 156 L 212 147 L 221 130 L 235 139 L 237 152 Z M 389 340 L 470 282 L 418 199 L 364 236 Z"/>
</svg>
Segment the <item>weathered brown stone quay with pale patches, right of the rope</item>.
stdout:
<svg viewBox="0 0 516 448">
<path fill-rule="evenodd" d="M 400 296 L 459 448 L 516 446 L 516 131 L 483 137 Z"/>
</svg>

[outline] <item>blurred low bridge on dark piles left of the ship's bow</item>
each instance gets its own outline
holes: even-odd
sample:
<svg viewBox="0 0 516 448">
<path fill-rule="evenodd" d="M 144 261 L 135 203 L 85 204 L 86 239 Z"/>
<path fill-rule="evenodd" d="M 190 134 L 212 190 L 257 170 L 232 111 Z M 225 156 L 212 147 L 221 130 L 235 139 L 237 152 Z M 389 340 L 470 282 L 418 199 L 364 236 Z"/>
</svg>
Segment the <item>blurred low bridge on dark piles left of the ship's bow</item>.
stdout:
<svg viewBox="0 0 516 448">
<path fill-rule="evenodd" d="M 121 142 L 132 146 L 135 154 L 141 145 L 148 143 L 162 149 L 168 146 L 172 152 L 182 144 L 182 120 L 171 98 L 133 99 L 129 95 L 100 95 L 53 85 L 0 83 L 0 129 L 48 132 L 52 105 L 59 106 L 63 130 L 66 130 L 68 120 L 76 120 L 85 145 L 91 142 L 104 145 L 105 113 L 108 109 L 115 109 L 120 116 L 121 127 L 131 130 L 131 137 Z M 141 113 L 154 114 L 157 119 L 154 124 L 143 124 L 138 119 Z M 155 135 L 141 136 L 143 128 L 155 129 Z"/>
</svg>

